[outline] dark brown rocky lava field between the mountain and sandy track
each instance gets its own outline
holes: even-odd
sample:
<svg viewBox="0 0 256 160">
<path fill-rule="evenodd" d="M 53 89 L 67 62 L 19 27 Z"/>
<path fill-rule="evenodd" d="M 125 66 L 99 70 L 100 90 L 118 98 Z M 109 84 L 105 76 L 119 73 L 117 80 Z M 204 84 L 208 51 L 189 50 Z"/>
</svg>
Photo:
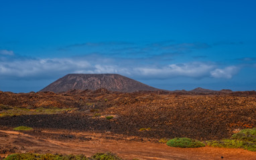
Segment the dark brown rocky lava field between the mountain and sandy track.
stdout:
<svg viewBox="0 0 256 160">
<path fill-rule="evenodd" d="M 0 104 L 30 109 L 27 114 L 0 117 L 0 129 L 11 130 L 24 125 L 35 129 L 29 133 L 33 136 L 39 134 L 58 141 L 90 141 L 90 137 L 71 134 L 78 132 L 103 134 L 104 139 L 137 143 L 157 143 L 159 139 L 174 137 L 201 141 L 222 139 L 241 129 L 256 127 L 255 100 L 255 91 L 117 93 L 99 89 L 58 94 L 0 92 Z M 38 107 L 72 110 L 58 114 L 32 114 Z M 4 112 L 2 107 L 0 114 Z M 113 118 L 107 119 L 107 116 Z M 61 130 L 62 133 L 42 133 L 45 130 Z M 11 153 L 12 150 L 8 151 Z"/>
</svg>

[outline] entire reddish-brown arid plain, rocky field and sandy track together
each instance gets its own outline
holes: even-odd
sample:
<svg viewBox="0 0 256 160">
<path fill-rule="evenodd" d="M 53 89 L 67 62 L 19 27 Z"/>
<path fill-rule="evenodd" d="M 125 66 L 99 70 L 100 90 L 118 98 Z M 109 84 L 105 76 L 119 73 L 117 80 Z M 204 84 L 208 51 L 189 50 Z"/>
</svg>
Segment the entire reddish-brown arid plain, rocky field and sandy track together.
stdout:
<svg viewBox="0 0 256 160">
<path fill-rule="evenodd" d="M 1 157 L 112 151 L 124 159 L 255 159 L 255 152 L 244 149 L 181 149 L 159 143 L 174 137 L 218 140 L 251 129 L 255 96 L 255 91 L 1 92 Z M 18 126 L 33 130 L 13 131 Z"/>
</svg>

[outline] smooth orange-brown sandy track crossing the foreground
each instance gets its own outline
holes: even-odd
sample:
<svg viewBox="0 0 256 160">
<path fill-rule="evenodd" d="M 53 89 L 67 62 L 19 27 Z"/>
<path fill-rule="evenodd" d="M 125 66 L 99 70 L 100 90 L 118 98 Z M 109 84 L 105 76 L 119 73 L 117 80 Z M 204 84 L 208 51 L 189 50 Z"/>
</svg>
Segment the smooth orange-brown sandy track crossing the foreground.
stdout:
<svg viewBox="0 0 256 160">
<path fill-rule="evenodd" d="M 45 133 L 51 133 L 45 131 Z M 62 134 L 55 132 L 54 134 Z M 33 135 L 33 132 L 0 130 L 1 148 L 15 147 L 16 153 L 61 153 L 93 155 L 97 152 L 111 151 L 124 159 L 248 159 L 255 160 L 256 153 L 243 149 L 222 149 L 202 147 L 197 149 L 180 149 L 165 144 L 152 142 L 125 141 L 105 139 L 98 133 L 75 133 L 92 137 L 89 141 L 78 139 L 56 140 L 51 137 Z M 5 153 L 0 154 L 2 157 Z"/>
</svg>

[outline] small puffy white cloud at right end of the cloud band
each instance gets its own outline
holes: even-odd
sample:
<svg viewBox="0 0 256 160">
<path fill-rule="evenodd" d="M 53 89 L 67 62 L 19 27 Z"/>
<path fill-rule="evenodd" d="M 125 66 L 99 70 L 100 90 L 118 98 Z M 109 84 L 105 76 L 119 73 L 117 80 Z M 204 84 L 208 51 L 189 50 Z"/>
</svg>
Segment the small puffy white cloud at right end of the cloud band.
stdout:
<svg viewBox="0 0 256 160">
<path fill-rule="evenodd" d="M 239 71 L 238 67 L 229 66 L 224 69 L 214 69 L 214 71 L 210 72 L 210 75 L 214 78 L 226 78 L 231 79 L 233 75 L 235 75 Z"/>
</svg>

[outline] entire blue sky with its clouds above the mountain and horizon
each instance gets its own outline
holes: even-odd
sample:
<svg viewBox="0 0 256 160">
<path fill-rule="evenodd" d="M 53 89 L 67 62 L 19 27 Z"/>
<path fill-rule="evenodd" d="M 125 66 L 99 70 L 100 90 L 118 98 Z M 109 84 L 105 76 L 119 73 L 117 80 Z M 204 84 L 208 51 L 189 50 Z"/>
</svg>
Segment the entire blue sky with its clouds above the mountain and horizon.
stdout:
<svg viewBox="0 0 256 160">
<path fill-rule="evenodd" d="M 256 1 L 1 1 L 0 90 L 68 73 L 161 89 L 256 90 Z"/>
</svg>

